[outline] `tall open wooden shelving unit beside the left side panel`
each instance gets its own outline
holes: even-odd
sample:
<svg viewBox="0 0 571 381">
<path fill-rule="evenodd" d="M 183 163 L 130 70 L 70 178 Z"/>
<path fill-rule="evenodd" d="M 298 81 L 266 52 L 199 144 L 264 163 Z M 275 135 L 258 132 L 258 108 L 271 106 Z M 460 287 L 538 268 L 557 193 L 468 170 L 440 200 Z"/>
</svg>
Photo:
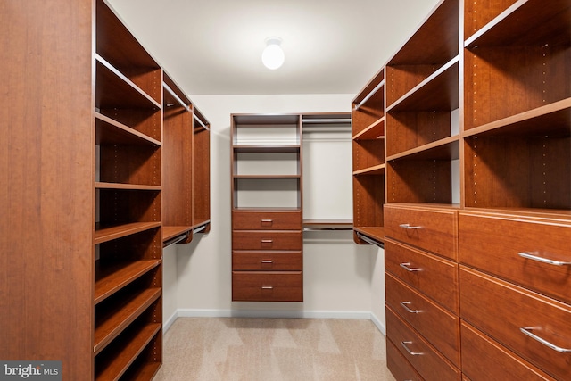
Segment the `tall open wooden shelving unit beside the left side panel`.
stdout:
<svg viewBox="0 0 571 381">
<path fill-rule="evenodd" d="M 162 70 L 103 1 L 95 9 L 93 356 L 104 380 L 137 358 L 161 364 Z"/>
</svg>

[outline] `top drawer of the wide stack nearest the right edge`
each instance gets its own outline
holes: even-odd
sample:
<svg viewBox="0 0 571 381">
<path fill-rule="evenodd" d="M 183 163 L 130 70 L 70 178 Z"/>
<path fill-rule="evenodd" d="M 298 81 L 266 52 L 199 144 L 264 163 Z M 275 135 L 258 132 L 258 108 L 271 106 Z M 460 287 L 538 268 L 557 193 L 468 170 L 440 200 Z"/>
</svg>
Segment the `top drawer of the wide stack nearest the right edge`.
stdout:
<svg viewBox="0 0 571 381">
<path fill-rule="evenodd" d="M 571 302 L 571 226 L 508 216 L 459 213 L 460 261 Z M 565 264 L 524 258 L 530 253 Z"/>
</svg>

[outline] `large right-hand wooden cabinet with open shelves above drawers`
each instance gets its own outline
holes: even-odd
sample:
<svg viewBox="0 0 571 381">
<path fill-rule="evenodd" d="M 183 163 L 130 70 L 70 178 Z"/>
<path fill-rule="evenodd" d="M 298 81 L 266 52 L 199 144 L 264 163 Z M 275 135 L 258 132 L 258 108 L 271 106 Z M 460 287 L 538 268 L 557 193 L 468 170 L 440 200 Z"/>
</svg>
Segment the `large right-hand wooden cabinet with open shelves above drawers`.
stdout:
<svg viewBox="0 0 571 381">
<path fill-rule="evenodd" d="M 443 0 L 372 79 L 399 379 L 571 374 L 570 30 L 566 0 Z"/>
</svg>

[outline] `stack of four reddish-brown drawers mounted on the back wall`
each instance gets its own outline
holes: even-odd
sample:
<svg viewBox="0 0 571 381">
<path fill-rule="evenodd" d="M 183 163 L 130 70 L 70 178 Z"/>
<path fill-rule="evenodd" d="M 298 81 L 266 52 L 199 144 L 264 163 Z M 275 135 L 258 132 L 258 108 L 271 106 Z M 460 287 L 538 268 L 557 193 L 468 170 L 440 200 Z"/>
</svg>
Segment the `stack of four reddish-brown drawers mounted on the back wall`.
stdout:
<svg viewBox="0 0 571 381">
<path fill-rule="evenodd" d="M 302 212 L 234 211 L 232 300 L 302 302 Z"/>
</svg>

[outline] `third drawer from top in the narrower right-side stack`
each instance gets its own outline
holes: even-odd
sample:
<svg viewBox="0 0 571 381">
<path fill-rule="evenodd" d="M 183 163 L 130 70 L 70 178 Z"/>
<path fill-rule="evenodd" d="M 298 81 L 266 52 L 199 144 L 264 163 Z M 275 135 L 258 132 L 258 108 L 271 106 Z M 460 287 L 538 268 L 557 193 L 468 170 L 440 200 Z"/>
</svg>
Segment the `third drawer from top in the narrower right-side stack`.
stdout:
<svg viewBox="0 0 571 381">
<path fill-rule="evenodd" d="M 459 368 L 459 318 L 429 302 L 397 278 L 385 275 L 386 303 Z"/>
</svg>

